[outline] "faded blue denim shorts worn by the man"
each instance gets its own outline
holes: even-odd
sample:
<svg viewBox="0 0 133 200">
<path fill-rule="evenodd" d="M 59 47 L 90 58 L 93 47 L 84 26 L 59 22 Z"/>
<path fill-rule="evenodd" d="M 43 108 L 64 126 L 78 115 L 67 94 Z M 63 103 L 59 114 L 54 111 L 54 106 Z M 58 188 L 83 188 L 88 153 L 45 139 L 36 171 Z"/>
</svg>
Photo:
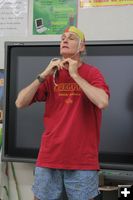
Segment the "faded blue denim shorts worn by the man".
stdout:
<svg viewBox="0 0 133 200">
<path fill-rule="evenodd" d="M 36 167 L 32 191 L 39 200 L 64 200 L 64 191 L 68 200 L 89 200 L 99 194 L 98 182 L 98 171 Z"/>
</svg>

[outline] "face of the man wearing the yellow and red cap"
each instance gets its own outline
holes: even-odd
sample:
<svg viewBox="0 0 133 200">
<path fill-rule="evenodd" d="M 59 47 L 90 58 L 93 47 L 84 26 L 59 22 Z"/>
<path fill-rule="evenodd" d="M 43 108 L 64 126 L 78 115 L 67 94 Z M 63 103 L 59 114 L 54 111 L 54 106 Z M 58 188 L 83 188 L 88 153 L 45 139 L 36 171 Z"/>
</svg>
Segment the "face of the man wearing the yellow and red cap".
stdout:
<svg viewBox="0 0 133 200">
<path fill-rule="evenodd" d="M 66 32 L 61 37 L 60 54 L 64 57 L 71 57 L 76 53 L 79 53 L 80 39 L 76 33 Z"/>
</svg>

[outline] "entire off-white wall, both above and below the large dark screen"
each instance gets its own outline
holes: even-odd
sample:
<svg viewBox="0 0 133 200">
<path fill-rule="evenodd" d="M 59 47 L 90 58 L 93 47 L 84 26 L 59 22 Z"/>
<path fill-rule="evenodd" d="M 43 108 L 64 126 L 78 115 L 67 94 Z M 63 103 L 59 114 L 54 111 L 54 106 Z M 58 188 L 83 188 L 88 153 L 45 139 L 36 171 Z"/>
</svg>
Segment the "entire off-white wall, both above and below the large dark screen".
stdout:
<svg viewBox="0 0 133 200">
<path fill-rule="evenodd" d="M 29 0 L 29 27 L 26 37 L 0 38 L 0 68 L 4 68 L 5 41 L 59 41 L 60 35 L 32 36 L 32 2 Z M 86 40 L 133 40 L 133 6 L 102 7 L 81 9 L 78 7 L 78 27 L 86 35 Z M 22 200 L 33 199 L 33 164 L 14 163 Z M 15 184 L 9 168 L 10 200 L 17 200 Z"/>
</svg>

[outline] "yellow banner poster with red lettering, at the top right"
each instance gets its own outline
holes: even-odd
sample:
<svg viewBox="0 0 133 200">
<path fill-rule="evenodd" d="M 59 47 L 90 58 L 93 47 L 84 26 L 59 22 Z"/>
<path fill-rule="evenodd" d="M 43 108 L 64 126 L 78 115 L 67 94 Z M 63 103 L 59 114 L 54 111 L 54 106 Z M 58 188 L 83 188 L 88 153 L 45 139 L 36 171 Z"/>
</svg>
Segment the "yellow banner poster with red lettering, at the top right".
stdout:
<svg viewBox="0 0 133 200">
<path fill-rule="evenodd" d="M 133 5 L 133 0 L 80 0 L 81 8 Z"/>
</svg>

